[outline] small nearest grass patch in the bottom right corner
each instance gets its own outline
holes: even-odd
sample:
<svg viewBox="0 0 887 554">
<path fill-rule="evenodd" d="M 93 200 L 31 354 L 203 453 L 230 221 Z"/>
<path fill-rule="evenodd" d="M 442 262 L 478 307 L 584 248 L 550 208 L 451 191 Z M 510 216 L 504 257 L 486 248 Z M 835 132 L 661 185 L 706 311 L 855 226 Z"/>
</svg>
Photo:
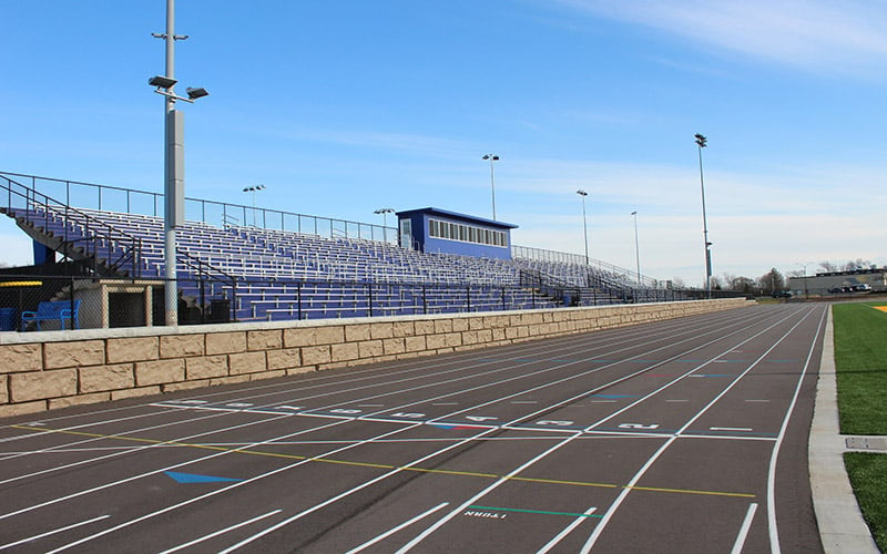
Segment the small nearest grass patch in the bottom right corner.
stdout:
<svg viewBox="0 0 887 554">
<path fill-rule="evenodd" d="M 871 536 L 887 552 L 887 455 L 847 452 L 844 464 Z"/>
</svg>

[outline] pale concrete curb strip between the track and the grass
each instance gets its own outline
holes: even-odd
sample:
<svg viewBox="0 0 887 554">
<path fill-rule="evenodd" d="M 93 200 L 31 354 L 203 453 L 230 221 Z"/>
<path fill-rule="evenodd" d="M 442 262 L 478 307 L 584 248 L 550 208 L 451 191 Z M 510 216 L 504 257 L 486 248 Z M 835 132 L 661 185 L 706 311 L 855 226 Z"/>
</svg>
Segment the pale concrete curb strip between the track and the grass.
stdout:
<svg viewBox="0 0 887 554">
<path fill-rule="evenodd" d="M 848 450 L 887 453 L 887 438 L 840 434 L 834 347 L 829 310 L 809 440 L 810 488 L 816 521 L 826 554 L 878 553 L 850 489 L 843 454 Z"/>
</svg>

